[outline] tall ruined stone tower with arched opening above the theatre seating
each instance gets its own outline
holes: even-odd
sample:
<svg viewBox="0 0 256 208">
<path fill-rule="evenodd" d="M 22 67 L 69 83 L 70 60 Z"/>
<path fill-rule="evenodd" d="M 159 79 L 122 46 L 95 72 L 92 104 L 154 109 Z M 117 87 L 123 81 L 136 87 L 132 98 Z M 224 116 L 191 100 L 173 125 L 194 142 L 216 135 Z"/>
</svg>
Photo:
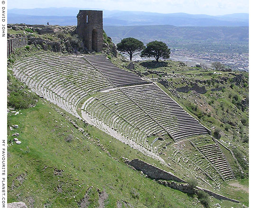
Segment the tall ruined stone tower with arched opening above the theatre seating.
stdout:
<svg viewBox="0 0 256 208">
<path fill-rule="evenodd" d="M 91 51 L 101 52 L 103 43 L 102 11 L 79 10 L 76 33 Z"/>
</svg>

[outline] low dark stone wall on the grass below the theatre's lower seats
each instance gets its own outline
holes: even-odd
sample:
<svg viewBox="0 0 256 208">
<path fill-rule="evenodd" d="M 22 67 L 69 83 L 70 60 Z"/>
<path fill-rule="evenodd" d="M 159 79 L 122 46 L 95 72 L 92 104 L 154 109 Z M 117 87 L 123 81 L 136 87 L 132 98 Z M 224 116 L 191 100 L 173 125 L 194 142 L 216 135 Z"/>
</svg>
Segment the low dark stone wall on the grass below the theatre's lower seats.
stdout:
<svg viewBox="0 0 256 208">
<path fill-rule="evenodd" d="M 127 163 L 135 167 L 135 169 L 147 174 L 150 178 L 153 178 L 156 180 L 163 179 L 163 180 L 174 180 L 176 182 L 185 182 L 182 179 L 178 178 L 177 176 L 173 175 L 172 173 L 168 173 L 167 171 L 164 171 L 158 167 L 150 165 L 139 159 L 127 161 Z"/>
</svg>

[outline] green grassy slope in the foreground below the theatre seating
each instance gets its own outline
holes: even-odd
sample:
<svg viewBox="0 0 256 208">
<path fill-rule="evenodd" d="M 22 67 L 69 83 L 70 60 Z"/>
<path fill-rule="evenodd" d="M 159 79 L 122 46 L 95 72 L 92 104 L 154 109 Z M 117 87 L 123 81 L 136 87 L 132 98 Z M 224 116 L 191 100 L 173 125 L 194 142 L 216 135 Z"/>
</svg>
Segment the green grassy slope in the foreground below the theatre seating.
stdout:
<svg viewBox="0 0 256 208">
<path fill-rule="evenodd" d="M 9 79 L 15 81 L 11 75 Z M 70 119 L 85 130 L 86 136 Z M 136 208 L 202 207 L 195 196 L 146 178 L 129 168 L 121 157 L 141 158 L 161 167 L 157 161 L 45 100 L 39 99 L 35 107 L 19 110 L 18 115 L 9 113 L 8 125 L 14 124 L 18 124 L 18 129 L 8 128 L 9 203 L 24 201 L 29 208 L 76 208 L 82 204 L 92 208 L 102 203 L 108 208 L 121 204 Z M 20 134 L 20 145 L 10 143 L 15 132 Z M 69 135 L 73 138 L 70 142 Z M 102 193 L 107 197 L 103 198 Z M 213 198 L 210 203 L 241 207 Z"/>
</svg>

